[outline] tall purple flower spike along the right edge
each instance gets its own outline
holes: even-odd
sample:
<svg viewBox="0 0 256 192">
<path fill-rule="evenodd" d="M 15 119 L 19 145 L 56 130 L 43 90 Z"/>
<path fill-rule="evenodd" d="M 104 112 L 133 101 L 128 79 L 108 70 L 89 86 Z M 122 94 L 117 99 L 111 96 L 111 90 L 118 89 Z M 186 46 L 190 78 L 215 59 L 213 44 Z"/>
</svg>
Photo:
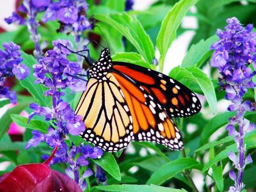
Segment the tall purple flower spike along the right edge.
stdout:
<svg viewBox="0 0 256 192">
<path fill-rule="evenodd" d="M 233 151 L 228 154 L 238 170 L 237 177 L 233 170 L 229 172 L 229 177 L 235 181 L 229 191 L 241 191 L 245 187 L 242 182 L 243 170 L 252 162 L 250 155 L 245 158 L 246 146 L 243 138 L 247 132 L 254 130 L 255 125 L 245 119 L 244 115 L 246 111 L 255 110 L 255 103 L 243 101 L 243 95 L 248 89 L 255 87 L 252 81 L 255 71 L 251 70 L 250 65 L 255 65 L 256 33 L 252 32 L 252 24 L 247 24 L 244 28 L 237 18 L 227 19 L 226 22 L 228 26 L 225 31 L 217 30 L 216 34 L 220 40 L 211 47 L 214 52 L 210 64 L 218 68 L 222 76 L 220 86 L 226 91 L 225 98 L 232 102 L 228 110 L 236 111 L 236 115 L 229 119 L 226 127 L 228 134 L 234 136 L 239 153 L 239 158 Z M 235 125 L 238 126 L 238 131 Z"/>
</svg>

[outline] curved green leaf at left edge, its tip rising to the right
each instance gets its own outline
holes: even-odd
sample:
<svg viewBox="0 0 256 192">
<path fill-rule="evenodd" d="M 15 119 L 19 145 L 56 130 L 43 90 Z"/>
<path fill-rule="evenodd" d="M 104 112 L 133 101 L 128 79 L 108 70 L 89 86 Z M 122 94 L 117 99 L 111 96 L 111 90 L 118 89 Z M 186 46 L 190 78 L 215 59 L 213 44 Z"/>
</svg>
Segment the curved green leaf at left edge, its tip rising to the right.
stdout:
<svg viewBox="0 0 256 192">
<path fill-rule="evenodd" d="M 1 129 L 0 129 L 0 139 L 5 135 L 5 133 L 9 130 L 11 123 L 13 120 L 11 119 L 10 115 L 11 114 L 20 114 L 24 110 L 24 108 L 28 107 L 29 103 L 26 102 L 20 102 L 19 105 L 16 105 L 12 108 L 9 108 L 3 114 L 3 116 L 0 119 L 0 124 L 1 124 Z"/>
</svg>

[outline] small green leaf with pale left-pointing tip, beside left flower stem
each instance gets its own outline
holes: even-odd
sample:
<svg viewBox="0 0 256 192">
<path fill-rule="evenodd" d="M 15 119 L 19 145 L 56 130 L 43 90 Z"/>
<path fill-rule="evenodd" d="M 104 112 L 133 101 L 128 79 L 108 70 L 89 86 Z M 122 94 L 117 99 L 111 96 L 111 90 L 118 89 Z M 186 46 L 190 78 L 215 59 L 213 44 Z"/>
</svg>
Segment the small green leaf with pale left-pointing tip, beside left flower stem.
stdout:
<svg viewBox="0 0 256 192">
<path fill-rule="evenodd" d="M 30 123 L 28 124 L 28 118 L 17 114 L 12 114 L 11 119 L 13 119 L 13 121 L 18 124 L 18 126 L 30 128 L 32 130 L 38 130 L 43 133 L 48 132 L 47 130 L 49 125 L 46 122 L 42 122 L 41 120 L 31 119 Z"/>
</svg>

